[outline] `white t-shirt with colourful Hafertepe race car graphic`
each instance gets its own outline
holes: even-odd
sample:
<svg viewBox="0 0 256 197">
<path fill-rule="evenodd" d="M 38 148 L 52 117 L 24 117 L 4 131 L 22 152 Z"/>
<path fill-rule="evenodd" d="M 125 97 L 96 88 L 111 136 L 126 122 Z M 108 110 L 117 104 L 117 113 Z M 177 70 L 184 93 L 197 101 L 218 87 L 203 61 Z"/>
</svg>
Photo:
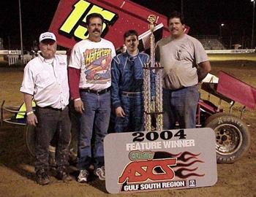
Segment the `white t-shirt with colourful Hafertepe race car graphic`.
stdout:
<svg viewBox="0 0 256 197">
<path fill-rule="evenodd" d="M 104 90 L 111 85 L 111 61 L 116 56 L 112 42 L 89 39 L 78 42 L 72 49 L 69 67 L 80 69 L 79 88 Z"/>
</svg>

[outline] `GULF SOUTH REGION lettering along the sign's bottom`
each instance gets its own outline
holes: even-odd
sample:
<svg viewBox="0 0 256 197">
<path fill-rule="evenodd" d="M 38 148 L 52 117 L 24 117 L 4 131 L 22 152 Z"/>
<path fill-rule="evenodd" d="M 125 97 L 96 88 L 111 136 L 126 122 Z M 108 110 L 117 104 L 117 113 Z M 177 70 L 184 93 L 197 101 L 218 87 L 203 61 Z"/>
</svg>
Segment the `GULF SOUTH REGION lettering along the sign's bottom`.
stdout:
<svg viewBox="0 0 256 197">
<path fill-rule="evenodd" d="M 134 190 L 156 190 L 167 188 L 183 188 L 186 187 L 185 180 L 173 181 L 173 182 L 151 182 L 135 185 L 124 185 L 121 191 L 134 191 Z"/>
</svg>

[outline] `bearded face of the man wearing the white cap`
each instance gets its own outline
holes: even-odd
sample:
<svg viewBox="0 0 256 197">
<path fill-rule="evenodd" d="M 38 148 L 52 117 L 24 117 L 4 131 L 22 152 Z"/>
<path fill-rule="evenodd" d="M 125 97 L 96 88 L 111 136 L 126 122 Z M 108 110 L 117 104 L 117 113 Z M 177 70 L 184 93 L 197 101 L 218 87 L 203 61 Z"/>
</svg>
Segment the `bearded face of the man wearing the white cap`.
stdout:
<svg viewBox="0 0 256 197">
<path fill-rule="evenodd" d="M 39 43 L 39 48 L 41 50 L 42 56 L 45 59 L 50 59 L 53 58 L 56 53 L 57 44 L 52 39 L 45 39 Z"/>
</svg>

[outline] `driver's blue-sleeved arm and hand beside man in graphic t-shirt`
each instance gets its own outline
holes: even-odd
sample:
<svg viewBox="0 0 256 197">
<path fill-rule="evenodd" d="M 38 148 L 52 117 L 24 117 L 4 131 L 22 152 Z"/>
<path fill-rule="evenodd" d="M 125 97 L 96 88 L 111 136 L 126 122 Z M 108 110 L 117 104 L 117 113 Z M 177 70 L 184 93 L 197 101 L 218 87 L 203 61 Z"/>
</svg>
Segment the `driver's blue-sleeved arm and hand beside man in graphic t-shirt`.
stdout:
<svg viewBox="0 0 256 197">
<path fill-rule="evenodd" d="M 113 58 L 111 62 L 111 101 L 112 106 L 115 109 L 117 117 L 124 117 L 125 113 L 121 107 L 121 100 L 119 97 L 119 80 L 120 70 L 118 69 L 118 58 Z"/>
</svg>

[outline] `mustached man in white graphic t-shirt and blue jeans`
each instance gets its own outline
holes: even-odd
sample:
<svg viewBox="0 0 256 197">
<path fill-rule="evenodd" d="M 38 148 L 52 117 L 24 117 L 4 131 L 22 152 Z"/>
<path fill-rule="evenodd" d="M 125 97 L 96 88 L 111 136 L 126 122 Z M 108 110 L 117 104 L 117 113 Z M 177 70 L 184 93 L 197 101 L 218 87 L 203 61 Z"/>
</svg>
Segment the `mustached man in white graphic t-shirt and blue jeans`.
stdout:
<svg viewBox="0 0 256 197">
<path fill-rule="evenodd" d="M 116 51 L 112 42 L 101 38 L 103 22 L 98 13 L 86 17 L 89 37 L 73 47 L 69 60 L 70 94 L 80 113 L 78 182 L 88 182 L 91 163 L 94 174 L 105 179 L 103 139 L 110 120 L 110 62 Z"/>
</svg>

